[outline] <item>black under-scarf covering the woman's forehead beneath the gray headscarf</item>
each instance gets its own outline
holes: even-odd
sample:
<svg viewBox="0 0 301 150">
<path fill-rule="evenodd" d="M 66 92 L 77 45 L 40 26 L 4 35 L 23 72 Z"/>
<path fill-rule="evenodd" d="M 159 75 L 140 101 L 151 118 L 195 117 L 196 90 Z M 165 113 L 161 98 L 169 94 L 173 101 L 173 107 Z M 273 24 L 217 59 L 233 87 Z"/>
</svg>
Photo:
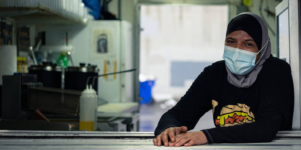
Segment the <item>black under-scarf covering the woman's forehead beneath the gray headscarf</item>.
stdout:
<svg viewBox="0 0 301 150">
<path fill-rule="evenodd" d="M 262 30 L 260 23 L 251 15 L 243 14 L 232 19 L 227 27 L 226 37 L 233 31 L 243 30 L 247 32 L 255 41 L 258 50 L 261 49 Z"/>
</svg>

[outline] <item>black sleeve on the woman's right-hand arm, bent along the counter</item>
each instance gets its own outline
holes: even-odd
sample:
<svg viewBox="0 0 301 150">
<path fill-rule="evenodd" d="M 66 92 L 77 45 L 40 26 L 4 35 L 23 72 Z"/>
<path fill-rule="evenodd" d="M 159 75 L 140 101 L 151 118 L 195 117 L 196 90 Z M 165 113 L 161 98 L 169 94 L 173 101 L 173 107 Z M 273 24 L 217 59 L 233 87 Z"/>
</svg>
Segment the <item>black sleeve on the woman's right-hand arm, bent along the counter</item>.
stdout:
<svg viewBox="0 0 301 150">
<path fill-rule="evenodd" d="M 290 70 L 272 73 L 258 88 L 260 104 L 255 122 L 202 130 L 209 143 L 270 142 L 281 127 L 289 126 L 294 100 Z"/>
</svg>

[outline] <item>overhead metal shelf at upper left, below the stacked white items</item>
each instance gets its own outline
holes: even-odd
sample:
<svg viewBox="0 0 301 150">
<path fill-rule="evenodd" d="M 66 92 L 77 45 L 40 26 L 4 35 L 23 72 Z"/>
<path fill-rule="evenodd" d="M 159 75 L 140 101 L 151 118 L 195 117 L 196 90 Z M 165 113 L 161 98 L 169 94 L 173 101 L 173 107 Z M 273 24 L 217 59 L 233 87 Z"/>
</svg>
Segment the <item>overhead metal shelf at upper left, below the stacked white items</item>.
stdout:
<svg viewBox="0 0 301 150">
<path fill-rule="evenodd" d="M 41 3 L 37 7 L 0 7 L 0 18 L 11 17 L 19 25 L 87 25 L 88 19 L 65 10 L 52 9 Z"/>
</svg>

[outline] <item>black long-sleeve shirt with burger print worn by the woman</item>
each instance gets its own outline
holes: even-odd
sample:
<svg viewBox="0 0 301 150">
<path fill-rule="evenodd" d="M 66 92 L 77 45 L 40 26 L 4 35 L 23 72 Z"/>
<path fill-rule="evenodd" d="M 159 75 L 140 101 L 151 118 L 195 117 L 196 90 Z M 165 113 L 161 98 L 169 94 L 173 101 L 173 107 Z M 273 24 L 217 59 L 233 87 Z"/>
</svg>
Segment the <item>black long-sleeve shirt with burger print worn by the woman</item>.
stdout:
<svg viewBox="0 0 301 150">
<path fill-rule="evenodd" d="M 195 127 L 213 109 L 216 128 L 202 130 L 211 143 L 272 141 L 279 130 L 292 129 L 294 90 L 288 63 L 271 56 L 256 81 L 237 88 L 227 80 L 225 61 L 204 69 L 181 100 L 162 115 L 154 132 L 170 127 Z"/>
</svg>

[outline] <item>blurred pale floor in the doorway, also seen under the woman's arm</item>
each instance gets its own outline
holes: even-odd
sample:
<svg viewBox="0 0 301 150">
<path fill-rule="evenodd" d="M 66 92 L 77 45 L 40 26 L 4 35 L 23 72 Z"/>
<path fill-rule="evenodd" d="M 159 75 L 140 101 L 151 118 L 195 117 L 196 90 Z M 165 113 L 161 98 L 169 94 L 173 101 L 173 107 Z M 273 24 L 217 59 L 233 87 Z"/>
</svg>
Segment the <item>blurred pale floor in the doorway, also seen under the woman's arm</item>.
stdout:
<svg viewBox="0 0 301 150">
<path fill-rule="evenodd" d="M 163 103 L 153 103 L 153 104 L 142 104 L 140 105 L 140 127 L 139 131 L 142 132 L 154 132 L 158 125 L 158 122 L 166 111 L 171 107 L 160 108 L 160 104 Z M 202 129 L 214 128 L 212 111 L 208 111 L 199 120 L 196 127 L 191 131 L 199 131 Z"/>
</svg>

